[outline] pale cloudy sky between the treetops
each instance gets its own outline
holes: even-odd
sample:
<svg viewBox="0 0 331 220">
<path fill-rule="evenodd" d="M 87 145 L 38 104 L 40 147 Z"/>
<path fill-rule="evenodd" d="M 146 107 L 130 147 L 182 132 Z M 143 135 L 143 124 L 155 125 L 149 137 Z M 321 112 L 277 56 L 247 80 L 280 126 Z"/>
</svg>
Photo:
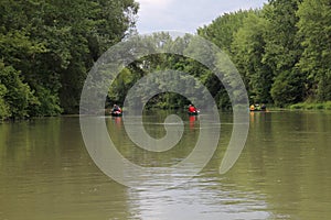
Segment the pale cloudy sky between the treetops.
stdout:
<svg viewBox="0 0 331 220">
<path fill-rule="evenodd" d="M 136 0 L 140 34 L 157 31 L 195 33 L 217 16 L 239 9 L 261 8 L 268 0 Z"/>
</svg>

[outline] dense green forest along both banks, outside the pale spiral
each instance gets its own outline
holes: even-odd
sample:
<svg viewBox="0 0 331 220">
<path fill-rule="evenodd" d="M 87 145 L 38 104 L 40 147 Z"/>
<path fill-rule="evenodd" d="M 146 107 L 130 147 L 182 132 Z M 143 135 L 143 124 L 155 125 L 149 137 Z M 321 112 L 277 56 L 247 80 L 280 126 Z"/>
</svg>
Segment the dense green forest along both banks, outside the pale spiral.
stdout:
<svg viewBox="0 0 331 220">
<path fill-rule="evenodd" d="M 111 45 L 136 34 L 139 6 L 134 0 L 0 1 L 0 119 L 78 112 L 93 64 Z M 223 14 L 196 32 L 231 57 L 250 102 L 286 107 L 331 100 L 329 0 L 269 0 L 261 9 Z M 193 36 L 146 37 L 156 47 L 177 47 Z M 225 89 L 206 67 L 173 54 L 127 66 L 109 89 L 108 105 L 122 103 L 139 78 L 162 69 L 199 78 L 220 108 L 229 108 Z M 188 103 L 175 94 L 149 101 L 158 108 Z"/>
</svg>

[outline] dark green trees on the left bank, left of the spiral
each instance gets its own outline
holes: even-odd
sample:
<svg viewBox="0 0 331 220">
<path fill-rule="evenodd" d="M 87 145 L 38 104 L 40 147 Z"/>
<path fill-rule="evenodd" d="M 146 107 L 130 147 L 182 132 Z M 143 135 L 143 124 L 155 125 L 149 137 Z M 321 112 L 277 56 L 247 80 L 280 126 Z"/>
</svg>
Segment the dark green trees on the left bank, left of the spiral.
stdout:
<svg viewBox="0 0 331 220">
<path fill-rule="evenodd" d="M 77 112 L 87 72 L 131 31 L 137 10 L 134 0 L 1 1 L 1 77 L 14 76 L 0 79 L 1 117 Z"/>
</svg>

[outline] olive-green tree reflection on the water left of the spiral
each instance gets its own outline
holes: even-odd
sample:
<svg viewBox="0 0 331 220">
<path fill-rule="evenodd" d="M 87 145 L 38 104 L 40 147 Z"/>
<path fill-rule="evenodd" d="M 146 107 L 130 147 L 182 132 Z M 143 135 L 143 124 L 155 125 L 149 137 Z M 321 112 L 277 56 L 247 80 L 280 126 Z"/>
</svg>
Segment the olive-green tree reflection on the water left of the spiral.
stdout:
<svg viewBox="0 0 331 220">
<path fill-rule="evenodd" d="M 0 218 L 130 219 L 127 188 L 95 166 L 75 117 L 0 124 Z"/>
</svg>

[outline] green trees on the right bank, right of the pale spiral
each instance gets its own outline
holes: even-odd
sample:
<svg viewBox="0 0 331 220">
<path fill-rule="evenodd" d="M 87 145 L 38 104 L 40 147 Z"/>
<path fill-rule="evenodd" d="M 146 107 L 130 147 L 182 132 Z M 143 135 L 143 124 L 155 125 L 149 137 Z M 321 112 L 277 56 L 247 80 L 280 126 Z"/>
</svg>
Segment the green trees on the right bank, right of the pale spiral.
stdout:
<svg viewBox="0 0 331 220">
<path fill-rule="evenodd" d="M 330 14 L 327 0 L 270 0 L 261 10 L 224 14 L 197 33 L 231 55 L 252 102 L 327 101 Z"/>
</svg>

